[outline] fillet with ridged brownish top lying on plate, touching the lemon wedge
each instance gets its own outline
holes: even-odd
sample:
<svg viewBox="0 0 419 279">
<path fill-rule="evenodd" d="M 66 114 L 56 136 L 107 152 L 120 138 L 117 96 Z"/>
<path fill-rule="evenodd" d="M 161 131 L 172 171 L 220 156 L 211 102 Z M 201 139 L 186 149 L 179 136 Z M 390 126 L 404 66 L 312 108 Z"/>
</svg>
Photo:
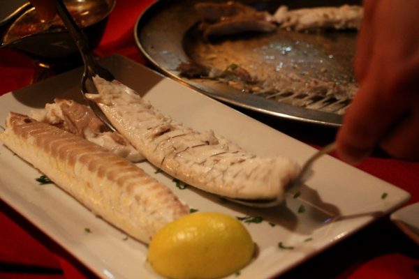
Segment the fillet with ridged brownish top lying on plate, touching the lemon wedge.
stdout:
<svg viewBox="0 0 419 279">
<path fill-rule="evenodd" d="M 57 127 L 10 113 L 0 140 L 96 215 L 145 243 L 189 213 L 139 167 Z"/>
</svg>

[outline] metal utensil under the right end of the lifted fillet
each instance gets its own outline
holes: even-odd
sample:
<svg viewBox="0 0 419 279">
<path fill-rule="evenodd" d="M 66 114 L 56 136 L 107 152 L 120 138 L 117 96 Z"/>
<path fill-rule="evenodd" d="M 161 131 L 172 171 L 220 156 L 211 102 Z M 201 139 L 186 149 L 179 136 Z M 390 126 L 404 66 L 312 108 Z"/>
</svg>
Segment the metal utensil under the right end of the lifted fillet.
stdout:
<svg viewBox="0 0 419 279">
<path fill-rule="evenodd" d="M 302 183 L 307 181 L 309 179 L 309 176 L 311 176 L 311 166 L 316 162 L 318 158 L 321 156 L 328 154 L 332 151 L 335 151 L 336 149 L 336 142 L 332 142 L 331 144 L 328 144 L 323 149 L 317 151 L 314 153 L 313 156 L 311 156 L 305 163 L 302 165 L 302 168 L 300 170 L 300 173 L 290 181 L 290 183 L 286 186 L 286 189 L 291 189 L 295 186 L 300 186 Z M 272 206 L 277 206 L 283 202 L 284 199 L 281 197 L 277 197 L 276 199 L 231 199 L 226 197 L 227 200 L 231 202 L 235 202 L 237 204 L 243 204 L 245 206 L 251 206 L 251 207 L 260 207 L 260 208 L 267 208 Z"/>
</svg>

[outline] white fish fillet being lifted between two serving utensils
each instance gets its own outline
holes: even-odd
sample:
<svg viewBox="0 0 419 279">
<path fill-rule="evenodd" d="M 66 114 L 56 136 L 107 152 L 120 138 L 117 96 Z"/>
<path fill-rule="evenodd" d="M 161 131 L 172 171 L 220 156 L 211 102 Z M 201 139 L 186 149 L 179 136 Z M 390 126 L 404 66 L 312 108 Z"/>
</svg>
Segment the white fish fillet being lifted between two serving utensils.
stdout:
<svg viewBox="0 0 419 279">
<path fill-rule="evenodd" d="M 200 133 L 163 116 L 117 81 L 95 77 L 98 103 L 119 133 L 150 163 L 210 193 L 241 199 L 273 199 L 300 167 L 288 158 L 260 158 L 212 131 Z"/>
</svg>

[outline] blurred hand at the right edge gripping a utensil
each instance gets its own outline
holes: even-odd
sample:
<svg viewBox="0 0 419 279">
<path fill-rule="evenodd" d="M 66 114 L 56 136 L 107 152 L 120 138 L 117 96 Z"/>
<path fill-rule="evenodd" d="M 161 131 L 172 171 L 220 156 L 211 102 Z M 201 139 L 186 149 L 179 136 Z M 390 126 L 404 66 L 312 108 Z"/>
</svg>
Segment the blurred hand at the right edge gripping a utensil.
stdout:
<svg viewBox="0 0 419 279">
<path fill-rule="evenodd" d="M 355 54 L 360 90 L 337 134 L 337 153 L 360 163 L 381 146 L 419 160 L 419 0 L 364 0 Z"/>
</svg>

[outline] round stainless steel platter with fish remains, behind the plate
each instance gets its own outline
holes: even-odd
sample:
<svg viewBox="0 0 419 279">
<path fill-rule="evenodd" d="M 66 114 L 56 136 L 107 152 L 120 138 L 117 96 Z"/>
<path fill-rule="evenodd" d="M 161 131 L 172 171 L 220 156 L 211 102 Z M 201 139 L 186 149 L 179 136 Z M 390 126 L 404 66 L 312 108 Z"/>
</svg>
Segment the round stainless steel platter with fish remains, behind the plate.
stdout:
<svg viewBox="0 0 419 279">
<path fill-rule="evenodd" d="M 341 125 L 342 111 L 351 103 L 351 98 L 337 99 L 315 94 L 302 96 L 291 92 L 249 93 L 219 80 L 182 77 L 177 68 L 181 63 L 194 61 L 222 69 L 240 60 L 240 63 L 245 63 L 244 66 L 258 66 L 256 70 L 266 70 L 268 67 L 276 70 L 297 68 L 299 75 L 309 74 L 343 86 L 355 84 L 352 63 L 356 31 L 299 33 L 277 29 L 273 33 L 247 33 L 208 41 L 200 36 L 200 19 L 193 8 L 195 3 L 203 1 L 207 0 L 160 0 L 139 17 L 134 29 L 135 42 L 152 66 L 161 73 L 230 105 L 321 126 Z M 274 13 L 281 5 L 306 8 L 360 3 L 340 0 L 241 2 L 270 13 Z M 269 74 L 274 78 L 275 70 L 271 72 Z"/>
</svg>

